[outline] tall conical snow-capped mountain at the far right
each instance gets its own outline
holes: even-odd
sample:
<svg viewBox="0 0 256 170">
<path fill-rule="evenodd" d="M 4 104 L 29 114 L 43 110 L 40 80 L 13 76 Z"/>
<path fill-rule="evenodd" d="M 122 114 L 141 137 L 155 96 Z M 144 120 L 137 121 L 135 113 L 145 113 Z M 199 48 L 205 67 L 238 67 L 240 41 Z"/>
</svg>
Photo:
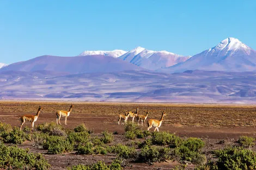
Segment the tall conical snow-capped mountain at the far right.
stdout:
<svg viewBox="0 0 256 170">
<path fill-rule="evenodd" d="M 183 63 L 159 71 L 173 73 L 186 70 L 256 71 L 256 51 L 238 39 L 229 37 Z"/>
</svg>

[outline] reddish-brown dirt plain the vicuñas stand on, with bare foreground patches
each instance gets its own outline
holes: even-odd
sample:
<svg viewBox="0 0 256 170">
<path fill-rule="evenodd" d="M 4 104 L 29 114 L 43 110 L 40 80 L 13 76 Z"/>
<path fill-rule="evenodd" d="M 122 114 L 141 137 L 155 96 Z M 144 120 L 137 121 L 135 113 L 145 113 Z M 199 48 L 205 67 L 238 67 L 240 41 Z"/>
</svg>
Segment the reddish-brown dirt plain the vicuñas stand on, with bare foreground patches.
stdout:
<svg viewBox="0 0 256 170">
<path fill-rule="evenodd" d="M 64 118 L 61 122 L 65 128 L 74 129 L 84 123 L 93 133 L 104 130 L 117 131 L 114 141 L 129 141 L 124 138 L 123 125 L 118 125 L 118 114 L 126 111 L 136 111 L 145 115 L 149 111 L 149 118 L 160 119 L 162 111 L 166 112 L 160 131 L 169 131 L 180 137 L 200 137 L 206 142 L 205 152 L 211 149 L 222 148 L 229 143 L 234 143 L 240 136 L 255 137 L 256 108 L 254 105 L 221 105 L 221 104 L 169 104 L 169 103 L 106 103 L 106 102 L 72 102 L 74 109 L 68 117 L 67 125 Z M 46 101 L 0 101 L 0 122 L 19 127 L 19 116 L 23 114 L 36 114 L 39 105 L 43 108 L 40 112 L 38 124 L 56 122 L 57 110 L 69 110 L 71 102 L 46 102 Z M 131 118 L 128 119 L 131 121 Z M 24 127 L 30 127 L 25 123 Z M 147 129 L 147 127 L 143 127 Z M 151 128 L 150 131 L 153 131 Z M 225 140 L 224 145 L 217 144 Z M 102 160 L 112 162 L 113 154 L 108 155 L 76 155 L 75 152 L 49 155 L 46 150 L 33 147 L 31 142 L 21 145 L 31 149 L 31 152 L 40 152 L 51 164 L 51 169 L 66 169 L 68 166 L 79 163 L 89 164 Z M 124 169 L 170 169 L 179 165 L 176 161 L 166 161 L 148 165 L 147 163 L 127 163 Z M 188 169 L 193 169 L 188 165 Z"/>
</svg>

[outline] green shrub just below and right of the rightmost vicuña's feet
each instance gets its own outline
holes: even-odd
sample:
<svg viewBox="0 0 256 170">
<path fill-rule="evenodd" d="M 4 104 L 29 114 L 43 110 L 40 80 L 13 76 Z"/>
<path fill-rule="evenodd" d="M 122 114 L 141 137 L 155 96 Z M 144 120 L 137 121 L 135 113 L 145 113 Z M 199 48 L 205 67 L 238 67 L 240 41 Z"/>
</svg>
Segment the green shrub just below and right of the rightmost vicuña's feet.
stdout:
<svg viewBox="0 0 256 170">
<path fill-rule="evenodd" d="M 179 146 L 181 142 L 182 140 L 179 136 L 170 134 L 166 131 L 154 132 L 152 134 L 153 144 L 159 144 L 159 145 L 168 144 L 170 147 L 176 147 L 176 146 Z"/>
</svg>

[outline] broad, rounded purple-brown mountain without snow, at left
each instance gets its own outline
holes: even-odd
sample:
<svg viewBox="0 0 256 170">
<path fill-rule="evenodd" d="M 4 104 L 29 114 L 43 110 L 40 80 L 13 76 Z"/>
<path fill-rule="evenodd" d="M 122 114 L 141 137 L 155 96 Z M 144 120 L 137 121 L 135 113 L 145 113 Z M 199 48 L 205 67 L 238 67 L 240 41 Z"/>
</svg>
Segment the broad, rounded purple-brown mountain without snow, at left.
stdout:
<svg viewBox="0 0 256 170">
<path fill-rule="evenodd" d="M 144 70 L 129 62 L 107 55 L 84 56 L 52 56 L 42 55 L 34 59 L 16 62 L 0 69 L 3 71 L 53 71 L 67 74 L 119 72 L 125 70 Z"/>
</svg>

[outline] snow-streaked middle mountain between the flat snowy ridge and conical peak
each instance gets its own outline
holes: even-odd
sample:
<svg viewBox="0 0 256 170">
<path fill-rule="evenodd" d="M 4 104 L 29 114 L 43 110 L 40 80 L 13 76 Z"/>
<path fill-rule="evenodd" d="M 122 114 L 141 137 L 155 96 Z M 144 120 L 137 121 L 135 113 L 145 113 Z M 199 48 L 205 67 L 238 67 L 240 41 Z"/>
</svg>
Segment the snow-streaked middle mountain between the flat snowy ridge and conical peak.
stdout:
<svg viewBox="0 0 256 170">
<path fill-rule="evenodd" d="M 131 62 L 148 70 L 157 70 L 173 66 L 189 59 L 190 56 L 181 56 L 167 51 L 150 51 L 143 47 L 137 47 L 119 56 L 119 59 Z"/>
</svg>

